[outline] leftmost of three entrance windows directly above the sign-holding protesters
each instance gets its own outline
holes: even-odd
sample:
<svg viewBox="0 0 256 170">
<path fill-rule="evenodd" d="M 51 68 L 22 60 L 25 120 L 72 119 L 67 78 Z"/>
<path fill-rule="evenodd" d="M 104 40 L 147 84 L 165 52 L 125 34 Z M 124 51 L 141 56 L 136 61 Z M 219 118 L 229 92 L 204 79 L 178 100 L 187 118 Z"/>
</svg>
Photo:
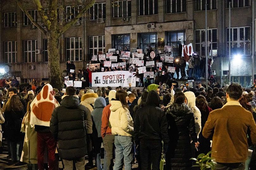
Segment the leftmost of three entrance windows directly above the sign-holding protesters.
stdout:
<svg viewBox="0 0 256 170">
<path fill-rule="evenodd" d="M 124 51 L 125 47 L 130 51 L 130 34 L 114 35 L 114 48 Z"/>
</svg>

